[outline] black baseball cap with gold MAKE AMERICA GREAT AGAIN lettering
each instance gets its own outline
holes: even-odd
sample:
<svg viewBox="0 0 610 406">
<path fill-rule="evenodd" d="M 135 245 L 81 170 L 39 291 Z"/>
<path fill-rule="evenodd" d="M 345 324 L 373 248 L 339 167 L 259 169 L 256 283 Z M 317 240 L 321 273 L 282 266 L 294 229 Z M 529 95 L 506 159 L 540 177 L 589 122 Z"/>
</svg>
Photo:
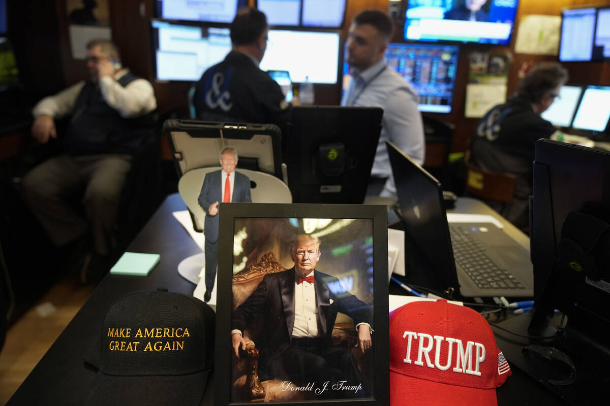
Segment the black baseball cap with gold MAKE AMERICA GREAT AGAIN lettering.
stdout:
<svg viewBox="0 0 610 406">
<path fill-rule="evenodd" d="M 99 371 L 85 405 L 200 405 L 215 318 L 198 298 L 167 290 L 118 299 L 102 324 Z"/>
</svg>

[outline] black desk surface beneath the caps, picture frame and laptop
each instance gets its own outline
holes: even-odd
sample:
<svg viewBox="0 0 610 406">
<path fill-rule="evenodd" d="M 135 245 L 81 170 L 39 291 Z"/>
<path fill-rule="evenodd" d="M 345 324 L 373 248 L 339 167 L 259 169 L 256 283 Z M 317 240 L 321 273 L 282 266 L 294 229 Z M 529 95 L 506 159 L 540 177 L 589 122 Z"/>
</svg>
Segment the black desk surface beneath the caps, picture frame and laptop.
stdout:
<svg viewBox="0 0 610 406">
<path fill-rule="evenodd" d="M 157 287 L 167 287 L 172 292 L 193 293 L 195 285 L 179 276 L 177 271 L 182 259 L 200 252 L 187 231 L 171 215 L 173 211 L 184 209 L 185 205 L 178 194 L 170 195 L 163 201 L 127 248 L 128 251 L 158 253 L 159 264 L 146 277 L 107 275 L 7 405 L 81 405 L 95 378 L 95 371 L 85 368 L 84 358 L 91 342 L 99 334 L 110 305 L 127 293 Z M 484 203 L 471 198 L 460 198 L 452 211 L 495 214 Z M 519 238 L 519 242 L 529 248 L 525 234 L 502 221 L 506 233 Z M 514 370 L 508 381 L 498 388 L 497 394 L 500 405 L 541 406 L 560 402 L 518 370 Z"/>
</svg>

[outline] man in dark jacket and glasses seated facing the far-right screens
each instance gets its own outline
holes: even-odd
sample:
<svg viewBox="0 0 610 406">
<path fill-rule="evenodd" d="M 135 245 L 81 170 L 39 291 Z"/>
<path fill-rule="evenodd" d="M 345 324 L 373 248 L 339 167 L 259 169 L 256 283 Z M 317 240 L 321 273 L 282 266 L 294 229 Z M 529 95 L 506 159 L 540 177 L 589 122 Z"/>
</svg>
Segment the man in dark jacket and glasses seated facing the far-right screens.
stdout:
<svg viewBox="0 0 610 406">
<path fill-rule="evenodd" d="M 528 197 L 533 192 L 534 145 L 557 130 L 540 117 L 559 96 L 568 72 L 556 62 L 534 66 L 506 103 L 493 107 L 479 122 L 470 144 L 470 163 L 492 172 L 513 173 L 515 198 L 487 203 L 515 226 L 527 229 Z"/>
</svg>

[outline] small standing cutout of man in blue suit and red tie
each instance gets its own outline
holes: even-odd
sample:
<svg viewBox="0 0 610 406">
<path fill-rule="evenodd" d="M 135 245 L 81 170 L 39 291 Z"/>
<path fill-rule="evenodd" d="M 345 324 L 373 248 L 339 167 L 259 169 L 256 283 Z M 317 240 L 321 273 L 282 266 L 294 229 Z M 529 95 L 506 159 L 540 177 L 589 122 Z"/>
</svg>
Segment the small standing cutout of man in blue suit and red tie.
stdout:
<svg viewBox="0 0 610 406">
<path fill-rule="evenodd" d="M 233 147 L 220 152 L 221 170 L 206 174 L 199 193 L 199 205 L 206 212 L 203 233 L 206 236 L 206 293 L 204 300 L 212 298 L 216 267 L 218 265 L 218 205 L 223 203 L 252 203 L 250 180 L 243 173 L 235 172 L 239 157 Z"/>
</svg>

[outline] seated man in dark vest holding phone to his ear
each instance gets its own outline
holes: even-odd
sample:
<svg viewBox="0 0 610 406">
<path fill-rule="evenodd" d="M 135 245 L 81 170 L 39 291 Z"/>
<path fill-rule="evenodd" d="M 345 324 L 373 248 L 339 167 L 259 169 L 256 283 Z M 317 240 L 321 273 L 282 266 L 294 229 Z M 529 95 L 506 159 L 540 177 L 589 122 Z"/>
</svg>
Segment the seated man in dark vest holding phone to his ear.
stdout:
<svg viewBox="0 0 610 406">
<path fill-rule="evenodd" d="M 151 84 L 121 66 L 109 40 L 87 44 L 90 80 L 45 97 L 32 114 L 32 136 L 41 144 L 58 138 L 54 119 L 69 117 L 58 141 L 62 154 L 23 178 L 23 196 L 58 247 L 90 233 L 92 257 L 106 257 L 131 154 L 151 134 L 157 107 Z M 81 276 L 83 276 L 82 274 Z"/>
</svg>

